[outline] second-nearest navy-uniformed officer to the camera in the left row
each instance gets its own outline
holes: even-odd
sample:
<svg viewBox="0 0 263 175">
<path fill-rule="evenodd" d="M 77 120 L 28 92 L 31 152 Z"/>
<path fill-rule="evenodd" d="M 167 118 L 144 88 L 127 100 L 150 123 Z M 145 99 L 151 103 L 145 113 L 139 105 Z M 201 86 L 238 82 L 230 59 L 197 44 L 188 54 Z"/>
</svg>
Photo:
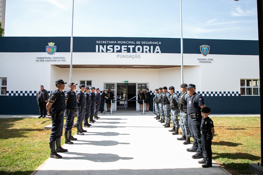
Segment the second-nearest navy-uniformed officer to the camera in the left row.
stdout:
<svg viewBox="0 0 263 175">
<path fill-rule="evenodd" d="M 71 140 L 77 140 L 72 136 L 72 126 L 74 124 L 75 112 L 78 109 L 77 98 L 75 94 L 76 85 L 73 82 L 69 83 L 69 90 L 65 92 L 66 99 L 66 124 L 65 124 L 65 144 L 73 144 Z"/>
</svg>

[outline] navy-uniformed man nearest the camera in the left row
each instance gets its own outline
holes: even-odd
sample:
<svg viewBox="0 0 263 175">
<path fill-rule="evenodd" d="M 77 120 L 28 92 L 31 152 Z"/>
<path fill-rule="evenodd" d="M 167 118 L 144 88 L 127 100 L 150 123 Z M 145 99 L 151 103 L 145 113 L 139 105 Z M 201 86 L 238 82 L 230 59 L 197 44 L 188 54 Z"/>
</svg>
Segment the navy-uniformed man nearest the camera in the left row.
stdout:
<svg viewBox="0 0 263 175">
<path fill-rule="evenodd" d="M 52 129 L 50 134 L 50 157 L 61 159 L 57 152 L 67 152 L 67 149 L 61 147 L 61 136 L 63 132 L 63 121 L 64 112 L 66 109 L 65 96 L 62 91 L 65 89 L 65 84 L 63 80 L 59 79 L 55 82 L 57 90 L 50 94 L 48 99 L 46 109 L 48 111 L 48 116 L 51 116 Z M 57 148 L 55 148 L 57 145 Z"/>
</svg>

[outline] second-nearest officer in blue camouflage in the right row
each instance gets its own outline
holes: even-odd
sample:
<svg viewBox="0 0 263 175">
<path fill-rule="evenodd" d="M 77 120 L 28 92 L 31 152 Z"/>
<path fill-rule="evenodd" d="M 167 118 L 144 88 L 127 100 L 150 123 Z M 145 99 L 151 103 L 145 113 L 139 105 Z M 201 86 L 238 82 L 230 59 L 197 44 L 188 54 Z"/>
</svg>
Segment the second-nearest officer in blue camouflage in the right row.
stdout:
<svg viewBox="0 0 263 175">
<path fill-rule="evenodd" d="M 173 135 L 179 134 L 179 120 L 178 120 L 178 94 L 175 93 L 175 87 L 170 86 L 169 88 L 170 95 L 170 109 L 171 116 L 173 122 L 173 129 L 168 130 L 169 132 L 173 132 Z"/>
</svg>

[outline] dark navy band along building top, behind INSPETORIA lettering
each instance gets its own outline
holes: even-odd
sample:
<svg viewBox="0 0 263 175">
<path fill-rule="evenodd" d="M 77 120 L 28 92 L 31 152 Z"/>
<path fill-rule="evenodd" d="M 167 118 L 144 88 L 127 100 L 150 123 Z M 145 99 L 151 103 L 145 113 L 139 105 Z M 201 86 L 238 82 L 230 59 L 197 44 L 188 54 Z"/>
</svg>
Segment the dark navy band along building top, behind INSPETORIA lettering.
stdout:
<svg viewBox="0 0 263 175">
<path fill-rule="evenodd" d="M 117 44 L 99 44 L 97 41 L 116 41 Z M 135 44 L 118 44 L 118 41 Z M 136 44 L 137 41 L 161 44 Z M 49 42 L 55 43 L 57 52 L 70 52 L 70 37 L 0 37 L 0 52 L 45 52 Z M 181 53 L 179 38 L 73 37 L 73 52 L 96 52 L 96 45 L 159 46 L 162 53 Z M 258 41 L 252 40 L 183 39 L 183 52 L 200 54 L 201 45 L 210 46 L 209 54 L 258 55 Z"/>
</svg>

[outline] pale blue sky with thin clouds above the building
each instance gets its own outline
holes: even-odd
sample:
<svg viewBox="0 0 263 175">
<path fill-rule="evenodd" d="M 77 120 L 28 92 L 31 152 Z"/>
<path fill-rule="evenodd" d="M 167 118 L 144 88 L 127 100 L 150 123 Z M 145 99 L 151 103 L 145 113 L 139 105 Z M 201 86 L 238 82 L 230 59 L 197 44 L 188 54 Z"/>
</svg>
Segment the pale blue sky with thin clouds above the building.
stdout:
<svg viewBox="0 0 263 175">
<path fill-rule="evenodd" d="M 5 36 L 71 36 L 73 0 L 6 0 Z M 182 0 L 183 38 L 258 40 L 256 0 Z M 180 0 L 74 0 L 73 36 L 181 38 Z"/>
</svg>

